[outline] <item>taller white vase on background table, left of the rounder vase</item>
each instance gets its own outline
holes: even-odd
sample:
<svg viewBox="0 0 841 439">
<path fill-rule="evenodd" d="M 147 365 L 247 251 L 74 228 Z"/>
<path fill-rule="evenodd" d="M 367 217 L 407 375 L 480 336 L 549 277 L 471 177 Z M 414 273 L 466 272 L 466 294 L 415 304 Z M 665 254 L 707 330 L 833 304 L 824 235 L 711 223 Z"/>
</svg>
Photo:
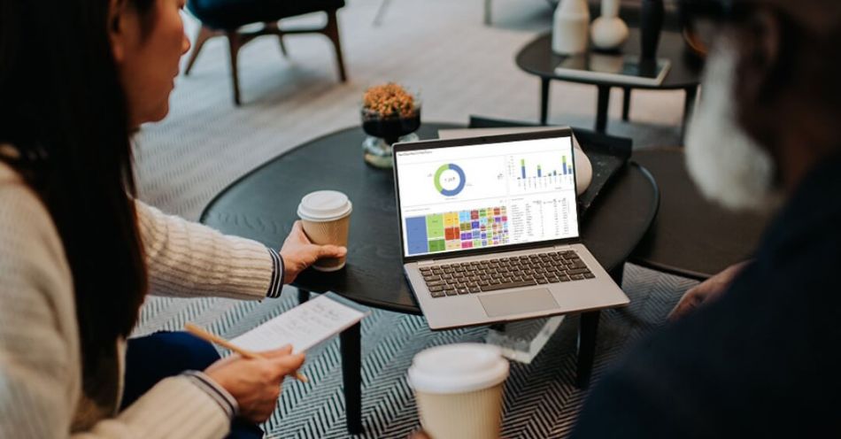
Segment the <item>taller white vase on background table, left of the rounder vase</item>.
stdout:
<svg viewBox="0 0 841 439">
<path fill-rule="evenodd" d="M 552 51 L 574 55 L 587 51 L 590 8 L 586 0 L 561 0 L 552 21 Z"/>
</svg>

